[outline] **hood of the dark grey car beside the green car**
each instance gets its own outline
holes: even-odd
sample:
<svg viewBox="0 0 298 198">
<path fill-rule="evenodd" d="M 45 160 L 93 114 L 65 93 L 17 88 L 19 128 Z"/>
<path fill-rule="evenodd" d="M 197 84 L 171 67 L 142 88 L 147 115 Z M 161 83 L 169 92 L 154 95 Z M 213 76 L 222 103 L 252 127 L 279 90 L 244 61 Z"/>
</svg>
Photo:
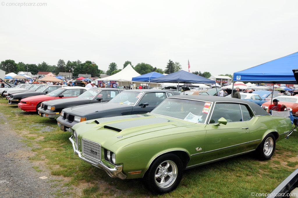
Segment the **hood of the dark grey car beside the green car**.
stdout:
<svg viewBox="0 0 298 198">
<path fill-rule="evenodd" d="M 114 109 L 114 108 L 121 108 L 127 107 L 128 105 L 119 104 L 119 103 L 110 103 L 110 102 L 103 102 L 103 103 L 94 103 L 94 104 L 86 104 L 80 105 L 76 107 L 71 107 L 64 109 L 63 112 L 72 113 L 77 115 L 77 113 L 84 113 L 84 115 L 88 115 L 93 112 L 104 111 L 107 109 Z"/>
</svg>

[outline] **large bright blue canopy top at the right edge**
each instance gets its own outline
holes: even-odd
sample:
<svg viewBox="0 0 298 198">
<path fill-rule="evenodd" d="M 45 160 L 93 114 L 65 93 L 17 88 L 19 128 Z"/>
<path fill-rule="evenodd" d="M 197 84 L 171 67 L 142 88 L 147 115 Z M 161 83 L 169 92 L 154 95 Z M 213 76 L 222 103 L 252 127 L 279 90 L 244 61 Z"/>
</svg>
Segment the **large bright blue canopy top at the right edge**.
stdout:
<svg viewBox="0 0 298 198">
<path fill-rule="evenodd" d="M 298 68 L 298 52 L 235 72 L 233 81 L 296 84 L 292 69 Z"/>
</svg>

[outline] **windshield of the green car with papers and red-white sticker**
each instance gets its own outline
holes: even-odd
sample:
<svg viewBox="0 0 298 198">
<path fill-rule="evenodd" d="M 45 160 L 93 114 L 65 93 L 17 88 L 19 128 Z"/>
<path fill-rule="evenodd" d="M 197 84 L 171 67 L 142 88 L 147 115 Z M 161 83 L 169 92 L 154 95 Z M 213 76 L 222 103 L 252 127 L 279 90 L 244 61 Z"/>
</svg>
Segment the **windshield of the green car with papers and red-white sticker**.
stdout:
<svg viewBox="0 0 298 198">
<path fill-rule="evenodd" d="M 151 113 L 193 123 L 205 123 L 211 103 L 187 99 L 167 98 Z"/>
</svg>

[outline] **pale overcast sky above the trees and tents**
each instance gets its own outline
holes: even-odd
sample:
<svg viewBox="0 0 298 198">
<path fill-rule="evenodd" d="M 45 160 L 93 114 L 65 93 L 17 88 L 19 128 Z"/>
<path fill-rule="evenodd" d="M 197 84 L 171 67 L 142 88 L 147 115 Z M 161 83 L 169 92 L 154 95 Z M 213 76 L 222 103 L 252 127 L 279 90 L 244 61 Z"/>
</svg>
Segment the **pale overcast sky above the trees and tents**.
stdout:
<svg viewBox="0 0 298 198">
<path fill-rule="evenodd" d="M 298 1 L 0 0 L 0 61 L 233 74 L 298 51 Z M 47 3 L 9 6 L 7 3 Z M 282 68 L 281 68 L 282 69 Z"/>
</svg>

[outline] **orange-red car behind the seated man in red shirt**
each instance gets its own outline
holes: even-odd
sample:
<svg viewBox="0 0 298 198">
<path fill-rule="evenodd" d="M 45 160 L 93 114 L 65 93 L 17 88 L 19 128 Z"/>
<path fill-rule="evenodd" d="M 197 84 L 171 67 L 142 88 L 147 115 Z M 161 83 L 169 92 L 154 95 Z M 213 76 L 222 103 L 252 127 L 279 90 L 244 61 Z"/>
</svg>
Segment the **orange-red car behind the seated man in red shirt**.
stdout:
<svg viewBox="0 0 298 198">
<path fill-rule="evenodd" d="M 278 104 L 283 104 L 287 108 L 285 108 L 285 111 L 291 111 L 294 115 L 298 111 L 298 97 L 297 96 L 278 96 L 274 99 L 279 100 Z M 271 104 L 271 100 L 265 102 L 262 104 L 263 109 L 268 109 L 269 105 Z"/>
</svg>

